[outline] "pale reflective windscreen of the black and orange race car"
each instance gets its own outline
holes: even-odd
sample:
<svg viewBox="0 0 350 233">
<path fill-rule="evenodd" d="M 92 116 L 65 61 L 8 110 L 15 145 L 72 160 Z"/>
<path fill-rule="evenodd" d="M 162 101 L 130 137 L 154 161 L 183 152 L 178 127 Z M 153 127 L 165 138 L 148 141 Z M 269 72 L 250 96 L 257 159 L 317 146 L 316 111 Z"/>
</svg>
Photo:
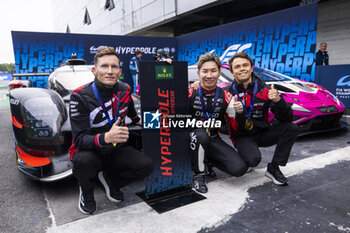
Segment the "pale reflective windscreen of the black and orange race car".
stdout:
<svg viewBox="0 0 350 233">
<path fill-rule="evenodd" d="M 95 76 L 90 70 L 60 71 L 55 76 L 56 82 L 70 91 L 92 82 L 94 78 Z"/>
</svg>

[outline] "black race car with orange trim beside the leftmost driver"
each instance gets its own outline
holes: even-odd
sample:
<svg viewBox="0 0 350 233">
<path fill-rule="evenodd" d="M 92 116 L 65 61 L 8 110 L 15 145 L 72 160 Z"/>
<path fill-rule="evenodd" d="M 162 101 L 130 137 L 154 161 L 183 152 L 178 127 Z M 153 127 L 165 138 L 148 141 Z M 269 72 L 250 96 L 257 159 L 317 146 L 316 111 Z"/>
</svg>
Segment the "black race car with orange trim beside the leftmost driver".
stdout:
<svg viewBox="0 0 350 233">
<path fill-rule="evenodd" d="M 72 174 L 69 99 L 74 89 L 94 80 L 91 68 L 84 60 L 70 59 L 50 74 L 47 89 L 20 84 L 10 87 L 16 163 L 24 174 L 43 182 Z M 140 111 L 139 100 L 133 99 Z M 141 127 L 130 126 L 129 130 L 130 143 L 141 148 Z"/>
</svg>

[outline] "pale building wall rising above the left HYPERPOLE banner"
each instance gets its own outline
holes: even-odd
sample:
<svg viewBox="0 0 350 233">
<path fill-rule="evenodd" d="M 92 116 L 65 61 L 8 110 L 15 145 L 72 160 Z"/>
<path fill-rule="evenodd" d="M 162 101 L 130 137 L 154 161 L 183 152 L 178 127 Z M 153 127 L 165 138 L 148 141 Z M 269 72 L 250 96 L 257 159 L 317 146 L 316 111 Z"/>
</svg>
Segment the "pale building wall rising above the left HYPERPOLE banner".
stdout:
<svg viewBox="0 0 350 233">
<path fill-rule="evenodd" d="M 114 0 L 115 8 L 104 9 L 106 0 L 52 0 L 57 32 L 125 35 L 155 26 L 218 0 Z M 91 24 L 83 23 L 88 9 Z"/>
</svg>

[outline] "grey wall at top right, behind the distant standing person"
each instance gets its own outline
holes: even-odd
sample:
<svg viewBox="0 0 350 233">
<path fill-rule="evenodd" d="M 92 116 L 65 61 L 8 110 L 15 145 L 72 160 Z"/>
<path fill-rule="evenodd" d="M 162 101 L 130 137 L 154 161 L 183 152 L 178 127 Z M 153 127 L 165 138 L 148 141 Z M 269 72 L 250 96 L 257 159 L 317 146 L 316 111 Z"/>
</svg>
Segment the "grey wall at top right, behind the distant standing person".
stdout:
<svg viewBox="0 0 350 233">
<path fill-rule="evenodd" d="M 327 42 L 330 65 L 350 64 L 350 1 L 320 2 L 317 23 L 317 50 Z"/>
</svg>

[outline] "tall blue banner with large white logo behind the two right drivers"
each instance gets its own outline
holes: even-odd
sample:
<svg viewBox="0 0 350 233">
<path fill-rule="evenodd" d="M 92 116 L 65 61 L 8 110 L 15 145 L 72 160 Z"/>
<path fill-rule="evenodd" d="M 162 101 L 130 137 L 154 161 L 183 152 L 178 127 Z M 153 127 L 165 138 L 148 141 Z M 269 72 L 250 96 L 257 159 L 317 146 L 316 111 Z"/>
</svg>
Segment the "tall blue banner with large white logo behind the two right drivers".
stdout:
<svg viewBox="0 0 350 233">
<path fill-rule="evenodd" d="M 315 81 L 317 3 L 209 28 L 178 37 L 178 59 L 195 64 L 212 52 L 222 63 L 244 51 L 254 65 Z"/>
</svg>

